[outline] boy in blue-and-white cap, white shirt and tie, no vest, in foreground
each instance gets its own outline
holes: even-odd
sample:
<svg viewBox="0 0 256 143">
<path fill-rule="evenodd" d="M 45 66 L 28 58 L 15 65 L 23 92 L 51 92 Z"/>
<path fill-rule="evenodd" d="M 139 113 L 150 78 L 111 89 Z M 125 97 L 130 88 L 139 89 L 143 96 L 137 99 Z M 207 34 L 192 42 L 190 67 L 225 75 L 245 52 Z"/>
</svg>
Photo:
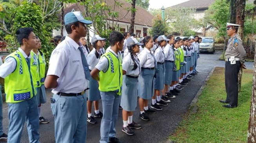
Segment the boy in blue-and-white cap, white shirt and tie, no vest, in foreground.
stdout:
<svg viewBox="0 0 256 143">
<path fill-rule="evenodd" d="M 51 109 L 56 143 L 84 143 L 87 133 L 85 89 L 90 72 L 79 39 L 86 36 L 85 25 L 92 21 L 85 20 L 80 11 L 67 13 L 64 21 L 68 35 L 51 55 L 45 87 L 53 89 Z"/>
</svg>

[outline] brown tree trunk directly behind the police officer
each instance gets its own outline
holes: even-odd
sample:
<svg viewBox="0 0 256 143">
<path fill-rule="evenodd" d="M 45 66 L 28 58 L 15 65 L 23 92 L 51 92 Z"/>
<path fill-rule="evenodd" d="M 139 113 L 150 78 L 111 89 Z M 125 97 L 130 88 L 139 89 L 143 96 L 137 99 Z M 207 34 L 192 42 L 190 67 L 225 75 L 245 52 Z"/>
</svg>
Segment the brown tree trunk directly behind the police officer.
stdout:
<svg viewBox="0 0 256 143">
<path fill-rule="evenodd" d="M 243 41 L 243 31 L 245 23 L 245 0 L 236 0 L 236 24 L 240 24 L 241 27 L 238 29 L 238 35 Z M 238 91 L 241 91 L 241 80 L 243 70 L 240 68 L 238 73 Z"/>
</svg>

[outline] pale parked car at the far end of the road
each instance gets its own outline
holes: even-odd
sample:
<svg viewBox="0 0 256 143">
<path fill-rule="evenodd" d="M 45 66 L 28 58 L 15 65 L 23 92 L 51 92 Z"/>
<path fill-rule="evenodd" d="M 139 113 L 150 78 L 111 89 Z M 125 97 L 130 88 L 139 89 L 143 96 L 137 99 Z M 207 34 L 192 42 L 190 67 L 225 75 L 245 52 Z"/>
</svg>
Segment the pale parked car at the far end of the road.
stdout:
<svg viewBox="0 0 256 143">
<path fill-rule="evenodd" d="M 215 41 L 212 37 L 202 37 L 202 43 L 200 43 L 199 52 L 210 52 L 213 54 L 215 52 Z"/>
</svg>

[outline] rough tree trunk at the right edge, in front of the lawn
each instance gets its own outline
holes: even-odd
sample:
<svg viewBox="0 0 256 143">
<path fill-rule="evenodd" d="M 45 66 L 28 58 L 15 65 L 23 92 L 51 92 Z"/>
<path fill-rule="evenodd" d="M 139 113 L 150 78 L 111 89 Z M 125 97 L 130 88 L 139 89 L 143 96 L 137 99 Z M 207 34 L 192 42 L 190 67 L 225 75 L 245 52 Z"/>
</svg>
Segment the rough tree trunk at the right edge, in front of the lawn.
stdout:
<svg viewBox="0 0 256 143">
<path fill-rule="evenodd" d="M 254 54 L 254 72 L 252 84 L 251 112 L 249 119 L 249 127 L 247 132 L 247 143 L 256 142 L 256 48 Z"/>
</svg>

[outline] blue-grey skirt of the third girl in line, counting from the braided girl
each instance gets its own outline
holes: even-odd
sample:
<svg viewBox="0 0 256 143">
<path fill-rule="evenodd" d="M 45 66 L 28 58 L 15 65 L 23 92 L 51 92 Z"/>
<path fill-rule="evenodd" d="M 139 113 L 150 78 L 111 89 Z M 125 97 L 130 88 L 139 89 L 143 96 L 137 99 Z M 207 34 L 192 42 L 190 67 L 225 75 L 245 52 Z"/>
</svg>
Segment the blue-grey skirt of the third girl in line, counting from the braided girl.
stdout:
<svg viewBox="0 0 256 143">
<path fill-rule="evenodd" d="M 154 78 L 154 89 L 156 90 L 163 90 L 163 84 L 164 84 L 163 83 L 163 75 L 164 75 L 163 64 L 159 64 L 159 63 L 157 64 L 159 68 L 159 72 L 156 73 L 156 78 Z"/>
</svg>

